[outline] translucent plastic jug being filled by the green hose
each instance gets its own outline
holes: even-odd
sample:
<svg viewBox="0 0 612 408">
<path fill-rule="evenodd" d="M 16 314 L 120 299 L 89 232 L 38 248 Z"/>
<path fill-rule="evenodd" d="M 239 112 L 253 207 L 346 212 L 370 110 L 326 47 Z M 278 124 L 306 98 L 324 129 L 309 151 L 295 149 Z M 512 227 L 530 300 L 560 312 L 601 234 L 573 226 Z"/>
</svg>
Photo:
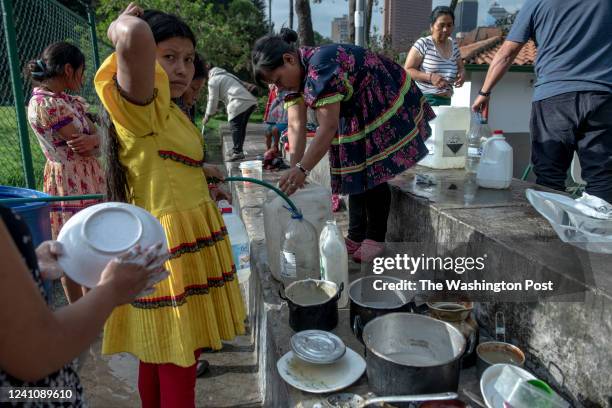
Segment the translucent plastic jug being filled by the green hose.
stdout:
<svg viewBox="0 0 612 408">
<path fill-rule="evenodd" d="M 280 278 L 285 286 L 304 279 L 319 279 L 319 235 L 308 220 L 291 217 L 278 256 Z"/>
</svg>

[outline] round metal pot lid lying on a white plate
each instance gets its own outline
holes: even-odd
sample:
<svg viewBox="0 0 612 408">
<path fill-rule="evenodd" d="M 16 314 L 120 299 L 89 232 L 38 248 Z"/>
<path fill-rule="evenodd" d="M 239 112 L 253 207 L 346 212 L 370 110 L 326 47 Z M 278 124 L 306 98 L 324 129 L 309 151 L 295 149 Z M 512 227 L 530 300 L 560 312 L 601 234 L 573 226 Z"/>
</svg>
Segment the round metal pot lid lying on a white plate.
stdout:
<svg viewBox="0 0 612 408">
<path fill-rule="evenodd" d="M 344 342 L 335 334 L 323 330 L 304 330 L 291 337 L 296 356 L 313 364 L 330 364 L 346 352 Z"/>
</svg>

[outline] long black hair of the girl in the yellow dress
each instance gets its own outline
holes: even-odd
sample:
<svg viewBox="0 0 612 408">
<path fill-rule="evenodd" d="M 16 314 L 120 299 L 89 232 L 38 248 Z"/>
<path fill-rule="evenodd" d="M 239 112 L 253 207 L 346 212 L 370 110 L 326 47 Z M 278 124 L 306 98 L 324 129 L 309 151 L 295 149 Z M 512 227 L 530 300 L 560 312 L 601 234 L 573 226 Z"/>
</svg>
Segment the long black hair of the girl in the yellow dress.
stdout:
<svg viewBox="0 0 612 408">
<path fill-rule="evenodd" d="M 149 25 L 155 44 L 170 38 L 187 38 L 196 46 L 196 39 L 191 28 L 179 17 L 158 10 L 145 10 L 142 19 Z M 108 129 L 104 139 L 104 156 L 106 162 L 106 191 L 110 201 L 130 202 L 130 188 L 127 183 L 127 168 L 119 161 L 121 145 L 117 131 L 108 112 L 103 115 L 103 128 Z"/>
</svg>

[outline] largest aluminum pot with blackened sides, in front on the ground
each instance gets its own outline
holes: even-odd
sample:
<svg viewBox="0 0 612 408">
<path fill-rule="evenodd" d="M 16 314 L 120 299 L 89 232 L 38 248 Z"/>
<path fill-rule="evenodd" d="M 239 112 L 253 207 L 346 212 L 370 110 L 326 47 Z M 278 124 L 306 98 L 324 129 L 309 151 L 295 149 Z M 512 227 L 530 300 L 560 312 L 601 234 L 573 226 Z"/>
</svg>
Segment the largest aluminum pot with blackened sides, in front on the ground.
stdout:
<svg viewBox="0 0 612 408">
<path fill-rule="evenodd" d="M 368 383 L 378 395 L 457 391 L 465 337 L 447 322 L 391 313 L 363 329 Z"/>
</svg>

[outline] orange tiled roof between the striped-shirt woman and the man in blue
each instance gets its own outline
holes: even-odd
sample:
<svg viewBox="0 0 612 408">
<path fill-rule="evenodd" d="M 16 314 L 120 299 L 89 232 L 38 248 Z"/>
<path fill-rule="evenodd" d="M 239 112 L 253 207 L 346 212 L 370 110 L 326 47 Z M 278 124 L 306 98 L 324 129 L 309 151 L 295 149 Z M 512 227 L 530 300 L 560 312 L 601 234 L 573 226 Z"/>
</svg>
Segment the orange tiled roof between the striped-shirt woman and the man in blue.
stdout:
<svg viewBox="0 0 612 408">
<path fill-rule="evenodd" d="M 497 36 L 459 47 L 465 64 L 489 65 L 503 43 L 503 37 Z M 518 53 L 512 65 L 532 66 L 535 64 L 537 49 L 529 40 Z"/>
</svg>

